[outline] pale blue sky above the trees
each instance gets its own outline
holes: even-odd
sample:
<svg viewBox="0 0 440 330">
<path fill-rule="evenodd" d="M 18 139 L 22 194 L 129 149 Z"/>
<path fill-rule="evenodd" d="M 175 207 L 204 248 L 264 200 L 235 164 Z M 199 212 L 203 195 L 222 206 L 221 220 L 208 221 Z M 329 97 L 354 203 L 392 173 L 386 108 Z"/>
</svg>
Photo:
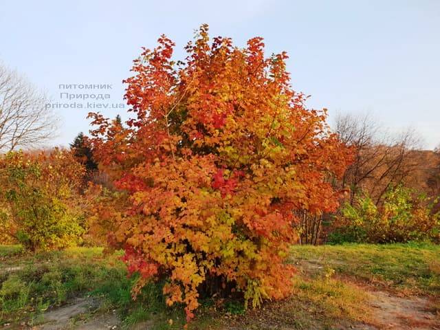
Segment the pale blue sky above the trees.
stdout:
<svg viewBox="0 0 440 330">
<path fill-rule="evenodd" d="M 176 58 L 201 25 L 211 36 L 244 46 L 265 39 L 267 55 L 287 51 L 296 91 L 307 105 L 337 112 L 373 113 L 391 131 L 412 127 L 424 148 L 440 144 L 440 1 L 24 1 L 0 0 L 0 61 L 63 100 L 60 84 L 111 84 L 122 102 L 140 47 L 164 33 Z M 54 144 L 89 130 L 83 108 L 54 109 L 63 126 Z M 95 103 L 102 101 L 94 101 Z M 105 109 L 109 117 L 125 109 Z"/>
</svg>

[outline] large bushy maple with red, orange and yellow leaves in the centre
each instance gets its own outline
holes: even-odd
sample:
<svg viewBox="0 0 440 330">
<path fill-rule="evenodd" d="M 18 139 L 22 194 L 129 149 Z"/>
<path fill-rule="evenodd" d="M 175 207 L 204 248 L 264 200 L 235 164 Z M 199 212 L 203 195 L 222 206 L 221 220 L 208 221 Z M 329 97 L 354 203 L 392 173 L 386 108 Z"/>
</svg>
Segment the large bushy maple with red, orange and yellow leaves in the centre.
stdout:
<svg viewBox="0 0 440 330">
<path fill-rule="evenodd" d="M 325 110 L 306 109 L 292 89 L 287 54 L 266 58 L 263 39 L 210 43 L 202 25 L 179 62 L 172 41 L 158 43 L 125 80 L 124 128 L 89 114 L 100 166 L 129 201 L 109 239 L 140 275 L 133 294 L 162 278 L 166 302 L 184 303 L 188 320 L 200 296 L 238 292 L 254 307 L 283 298 L 293 211 L 338 207 L 326 178 L 342 176 L 351 151 Z"/>
</svg>

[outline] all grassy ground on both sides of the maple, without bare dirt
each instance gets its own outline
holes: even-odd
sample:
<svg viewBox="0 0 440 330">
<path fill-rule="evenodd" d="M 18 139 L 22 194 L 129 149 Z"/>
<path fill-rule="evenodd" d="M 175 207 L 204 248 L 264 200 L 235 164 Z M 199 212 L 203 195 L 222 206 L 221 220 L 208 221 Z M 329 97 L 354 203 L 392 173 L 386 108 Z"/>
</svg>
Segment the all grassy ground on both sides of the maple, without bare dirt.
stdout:
<svg viewBox="0 0 440 330">
<path fill-rule="evenodd" d="M 148 329 L 181 329 L 181 307 L 165 307 L 160 284 L 148 285 L 135 302 L 133 279 L 119 260 L 100 248 L 26 255 L 0 247 L 0 325 L 39 325 L 48 310 L 75 297 L 99 301 L 84 318 L 115 310 L 122 328 L 147 322 Z M 440 298 L 440 247 L 406 245 L 295 246 L 298 268 L 292 298 L 243 311 L 237 301 L 204 300 L 190 329 L 350 329 L 373 313 L 366 285 L 399 294 Z M 19 329 L 19 328 L 17 328 Z"/>
</svg>

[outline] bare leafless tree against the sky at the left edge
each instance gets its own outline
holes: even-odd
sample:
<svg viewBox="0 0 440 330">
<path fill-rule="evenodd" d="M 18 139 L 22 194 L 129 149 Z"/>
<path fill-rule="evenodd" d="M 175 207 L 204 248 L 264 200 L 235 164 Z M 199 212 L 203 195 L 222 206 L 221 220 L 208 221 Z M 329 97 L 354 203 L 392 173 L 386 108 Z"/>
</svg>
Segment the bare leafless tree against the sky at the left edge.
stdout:
<svg viewBox="0 0 440 330">
<path fill-rule="evenodd" d="M 58 120 L 47 98 L 0 63 L 0 152 L 41 146 L 50 141 Z"/>
</svg>

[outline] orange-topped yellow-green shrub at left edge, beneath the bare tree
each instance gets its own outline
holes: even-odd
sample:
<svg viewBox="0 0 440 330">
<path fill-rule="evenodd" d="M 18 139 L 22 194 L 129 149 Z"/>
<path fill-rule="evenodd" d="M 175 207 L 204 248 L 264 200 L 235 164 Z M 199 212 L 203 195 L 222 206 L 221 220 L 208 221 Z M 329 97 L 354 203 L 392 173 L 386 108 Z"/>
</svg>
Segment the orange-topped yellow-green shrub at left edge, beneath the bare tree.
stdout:
<svg viewBox="0 0 440 330">
<path fill-rule="evenodd" d="M 0 201 L 8 236 L 28 250 L 65 248 L 84 232 L 80 182 L 84 168 L 71 153 L 11 152 L 0 157 Z"/>
</svg>

